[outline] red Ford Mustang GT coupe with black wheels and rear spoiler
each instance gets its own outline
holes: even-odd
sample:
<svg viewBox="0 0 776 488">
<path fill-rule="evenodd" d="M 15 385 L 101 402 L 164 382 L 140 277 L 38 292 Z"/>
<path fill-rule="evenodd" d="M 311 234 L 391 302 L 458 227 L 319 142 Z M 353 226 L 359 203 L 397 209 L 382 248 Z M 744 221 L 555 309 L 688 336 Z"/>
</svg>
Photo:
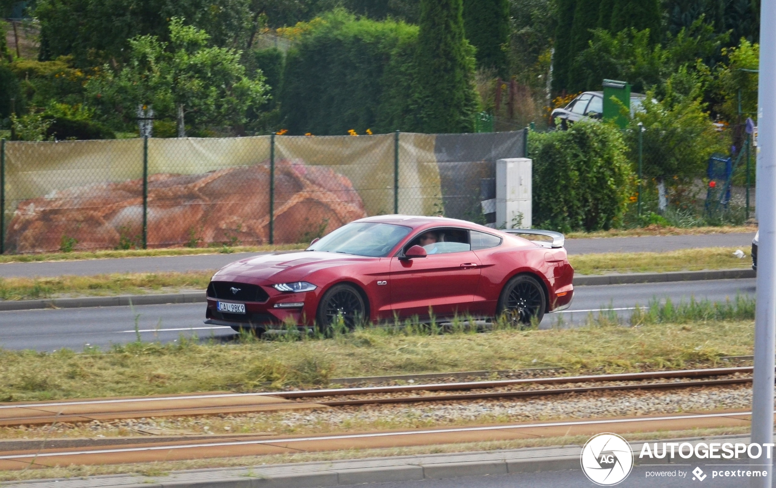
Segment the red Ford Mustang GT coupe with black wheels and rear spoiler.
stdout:
<svg viewBox="0 0 776 488">
<path fill-rule="evenodd" d="M 354 328 L 397 318 L 507 314 L 527 324 L 569 307 L 572 278 L 557 232 L 381 215 L 343 225 L 305 251 L 223 267 L 207 287 L 205 323 L 258 332 L 282 324 L 326 331 L 335 321 Z"/>
</svg>

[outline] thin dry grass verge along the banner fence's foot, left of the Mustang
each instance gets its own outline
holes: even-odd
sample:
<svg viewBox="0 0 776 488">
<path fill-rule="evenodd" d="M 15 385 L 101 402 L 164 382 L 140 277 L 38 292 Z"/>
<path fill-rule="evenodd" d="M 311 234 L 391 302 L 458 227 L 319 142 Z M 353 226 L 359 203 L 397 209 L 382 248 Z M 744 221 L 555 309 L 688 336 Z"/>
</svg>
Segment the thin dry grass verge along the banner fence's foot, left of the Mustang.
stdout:
<svg viewBox="0 0 776 488">
<path fill-rule="evenodd" d="M 165 249 L 126 249 L 111 251 L 73 251 L 71 253 L 4 254 L 0 263 L 32 263 L 40 261 L 78 261 L 125 257 L 192 256 L 218 253 L 263 253 L 307 249 L 309 244 L 279 244 L 277 246 L 171 247 Z"/>
</svg>

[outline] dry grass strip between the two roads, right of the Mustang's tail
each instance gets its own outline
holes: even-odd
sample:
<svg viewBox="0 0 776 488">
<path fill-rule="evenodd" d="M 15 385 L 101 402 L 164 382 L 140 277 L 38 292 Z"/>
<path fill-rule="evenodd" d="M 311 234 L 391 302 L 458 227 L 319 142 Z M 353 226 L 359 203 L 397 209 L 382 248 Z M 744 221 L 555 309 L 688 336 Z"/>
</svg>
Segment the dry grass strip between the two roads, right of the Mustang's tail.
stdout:
<svg viewBox="0 0 776 488">
<path fill-rule="evenodd" d="M 601 253 L 573 254 L 569 262 L 576 274 L 664 273 L 666 271 L 729 270 L 750 268 L 749 249 L 746 256 L 733 256 L 736 247 L 704 247 L 679 249 L 667 253 Z"/>
</svg>

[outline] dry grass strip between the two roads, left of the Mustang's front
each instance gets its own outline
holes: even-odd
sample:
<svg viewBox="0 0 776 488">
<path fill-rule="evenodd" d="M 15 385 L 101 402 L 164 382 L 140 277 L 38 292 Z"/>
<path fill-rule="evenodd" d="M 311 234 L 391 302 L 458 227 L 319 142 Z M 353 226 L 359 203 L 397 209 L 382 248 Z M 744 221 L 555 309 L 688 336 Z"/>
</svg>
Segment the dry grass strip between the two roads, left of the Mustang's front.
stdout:
<svg viewBox="0 0 776 488">
<path fill-rule="evenodd" d="M 173 293 L 205 290 L 215 270 L 189 273 L 115 273 L 91 277 L 0 277 L 0 299 Z"/>
</svg>

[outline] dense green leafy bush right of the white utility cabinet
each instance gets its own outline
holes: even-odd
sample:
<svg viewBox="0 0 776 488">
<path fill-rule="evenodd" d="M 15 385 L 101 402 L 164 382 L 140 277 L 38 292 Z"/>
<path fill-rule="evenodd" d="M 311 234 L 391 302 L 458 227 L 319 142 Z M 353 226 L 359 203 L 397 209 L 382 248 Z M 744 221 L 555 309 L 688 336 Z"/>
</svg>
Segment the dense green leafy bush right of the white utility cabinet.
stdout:
<svg viewBox="0 0 776 488">
<path fill-rule="evenodd" d="M 626 150 L 621 132 L 599 122 L 530 132 L 534 227 L 591 232 L 620 225 L 634 184 Z"/>
</svg>

